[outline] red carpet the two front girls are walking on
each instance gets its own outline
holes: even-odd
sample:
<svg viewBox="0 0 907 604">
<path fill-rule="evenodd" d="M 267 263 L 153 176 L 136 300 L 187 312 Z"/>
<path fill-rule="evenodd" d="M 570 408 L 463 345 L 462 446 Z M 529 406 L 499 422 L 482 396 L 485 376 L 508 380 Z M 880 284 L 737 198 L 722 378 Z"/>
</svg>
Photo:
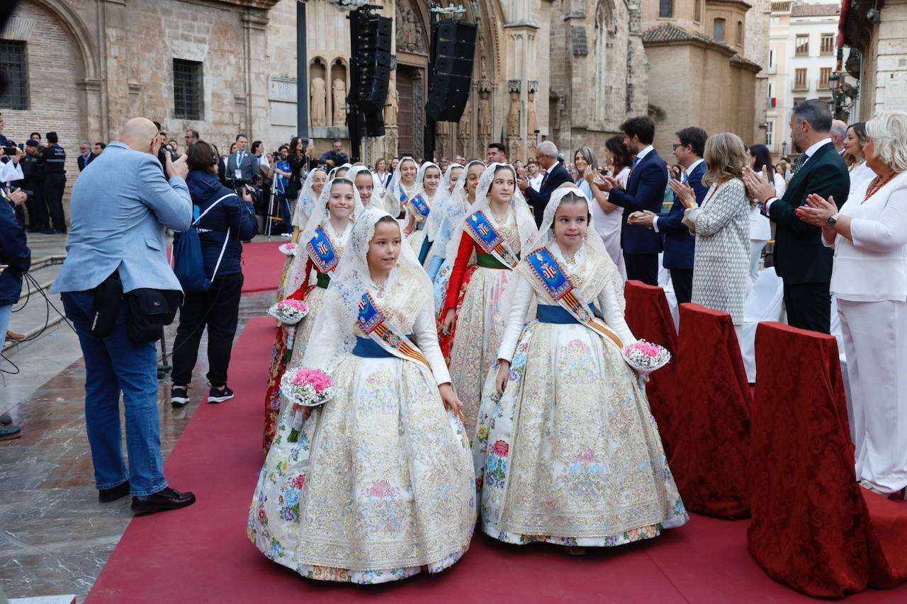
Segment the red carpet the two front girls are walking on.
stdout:
<svg viewBox="0 0 907 604">
<path fill-rule="evenodd" d="M 201 405 L 167 460 L 172 485 L 194 491 L 199 502 L 134 519 L 88 602 L 811 601 L 770 580 L 749 557 L 748 521 L 703 516 L 649 542 L 584 557 L 543 543 L 504 545 L 477 532 L 463 560 L 439 575 L 379 586 L 302 579 L 267 560 L 246 538 L 263 461 L 261 413 L 273 336 L 272 319 L 249 322 L 230 368 L 236 399 Z M 871 589 L 847 601 L 904 602 L 907 586 Z"/>
</svg>

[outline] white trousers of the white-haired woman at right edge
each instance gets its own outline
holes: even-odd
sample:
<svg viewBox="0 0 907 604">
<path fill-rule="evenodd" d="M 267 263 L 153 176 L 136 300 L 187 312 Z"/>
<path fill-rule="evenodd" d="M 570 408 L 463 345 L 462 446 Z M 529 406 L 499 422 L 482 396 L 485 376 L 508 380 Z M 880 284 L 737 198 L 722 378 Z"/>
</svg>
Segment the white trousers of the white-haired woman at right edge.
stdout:
<svg viewBox="0 0 907 604">
<path fill-rule="evenodd" d="M 838 299 L 857 480 L 907 487 L 907 302 Z"/>
</svg>

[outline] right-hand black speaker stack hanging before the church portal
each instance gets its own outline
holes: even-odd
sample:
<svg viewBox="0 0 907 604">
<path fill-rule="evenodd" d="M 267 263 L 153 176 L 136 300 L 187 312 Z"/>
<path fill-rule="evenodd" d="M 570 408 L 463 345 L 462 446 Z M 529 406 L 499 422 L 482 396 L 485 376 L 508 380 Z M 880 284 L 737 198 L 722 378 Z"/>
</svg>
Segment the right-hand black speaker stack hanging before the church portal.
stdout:
<svg viewBox="0 0 907 604">
<path fill-rule="evenodd" d="M 436 122 L 459 122 L 473 81 L 476 27 L 466 21 L 439 21 L 434 34 L 434 73 L 425 113 Z"/>
</svg>

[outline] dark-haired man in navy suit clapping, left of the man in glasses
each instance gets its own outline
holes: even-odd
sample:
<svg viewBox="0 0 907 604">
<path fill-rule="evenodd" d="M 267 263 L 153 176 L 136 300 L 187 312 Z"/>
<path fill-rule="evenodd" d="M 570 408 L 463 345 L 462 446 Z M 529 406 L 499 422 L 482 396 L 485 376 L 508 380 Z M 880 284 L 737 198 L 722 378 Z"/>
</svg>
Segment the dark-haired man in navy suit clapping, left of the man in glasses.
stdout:
<svg viewBox="0 0 907 604">
<path fill-rule="evenodd" d="M 620 124 L 624 143 L 633 158 L 627 189 L 621 188 L 617 179 L 606 176 L 597 181 L 600 190 L 608 191 L 608 200 L 624 209 L 623 224 L 620 227 L 620 247 L 623 248 L 627 278 L 642 281 L 651 286 L 658 285 L 658 252 L 661 251 L 661 236 L 641 225 L 627 221 L 633 212 L 648 209 L 658 214 L 668 187 L 668 164 L 652 147 L 655 140 L 655 122 L 649 116 L 630 118 Z"/>
</svg>

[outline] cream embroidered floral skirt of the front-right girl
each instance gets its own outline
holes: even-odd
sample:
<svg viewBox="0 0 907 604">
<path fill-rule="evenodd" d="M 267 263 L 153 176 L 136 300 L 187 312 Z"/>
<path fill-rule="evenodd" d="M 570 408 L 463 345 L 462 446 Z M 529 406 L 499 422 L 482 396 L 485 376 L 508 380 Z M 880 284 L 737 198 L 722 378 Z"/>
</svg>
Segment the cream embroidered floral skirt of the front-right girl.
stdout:
<svg viewBox="0 0 907 604">
<path fill-rule="evenodd" d="M 635 372 L 589 328 L 533 321 L 499 396 L 488 373 L 473 458 L 499 541 L 614 546 L 688 521 Z"/>
</svg>

